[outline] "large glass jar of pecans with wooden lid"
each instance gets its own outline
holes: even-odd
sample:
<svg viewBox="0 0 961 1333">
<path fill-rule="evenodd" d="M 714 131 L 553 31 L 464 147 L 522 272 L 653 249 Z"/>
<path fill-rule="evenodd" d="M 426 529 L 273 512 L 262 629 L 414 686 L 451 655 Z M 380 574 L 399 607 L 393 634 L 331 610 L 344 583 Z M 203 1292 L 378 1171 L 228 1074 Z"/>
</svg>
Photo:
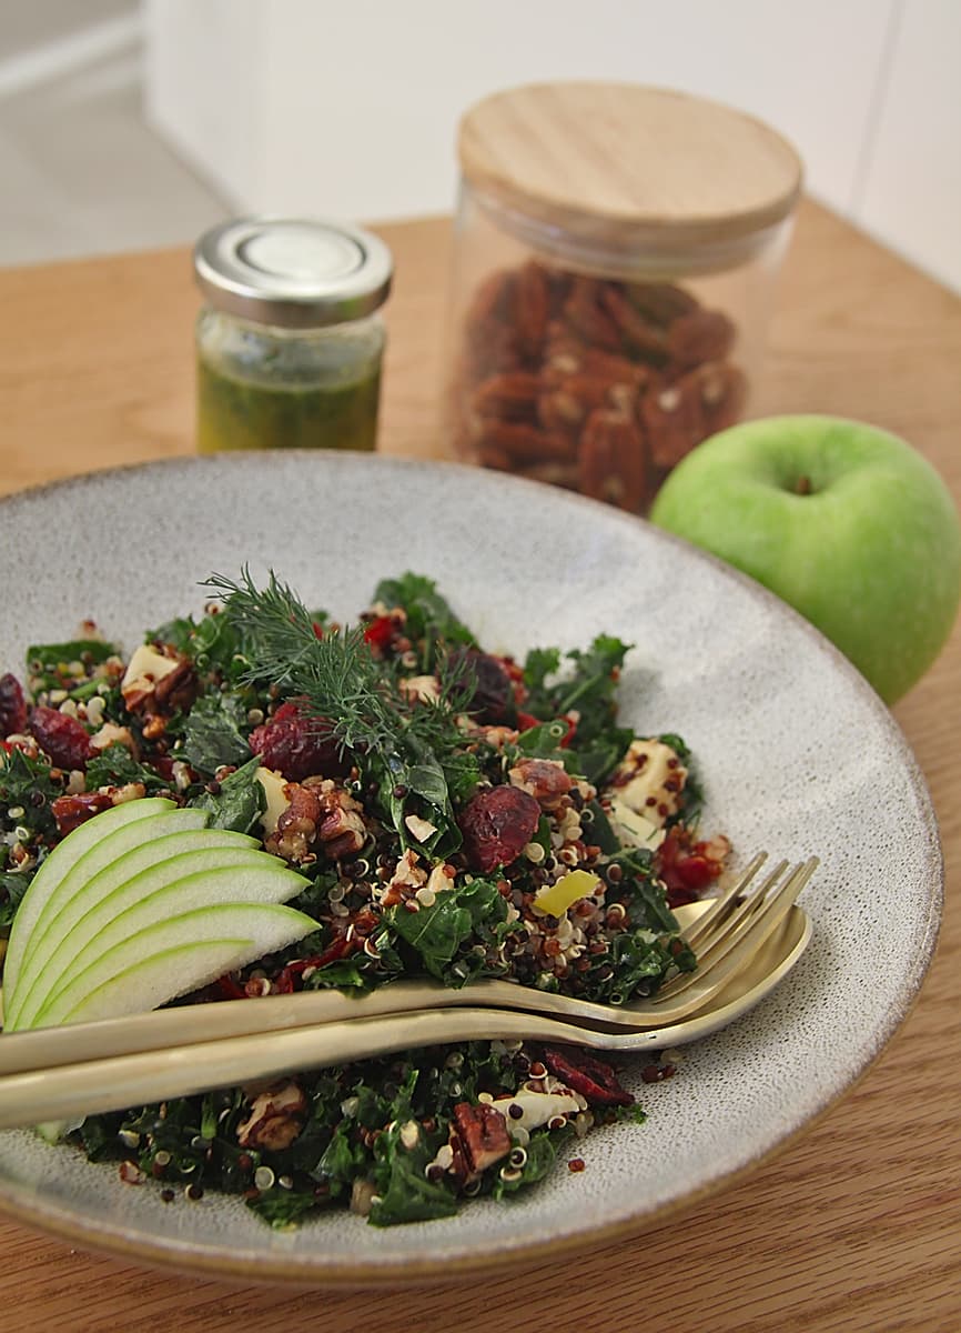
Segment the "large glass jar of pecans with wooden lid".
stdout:
<svg viewBox="0 0 961 1333">
<path fill-rule="evenodd" d="M 749 407 L 796 152 L 683 93 L 540 84 L 469 111 L 459 159 L 453 452 L 646 512 Z"/>
</svg>

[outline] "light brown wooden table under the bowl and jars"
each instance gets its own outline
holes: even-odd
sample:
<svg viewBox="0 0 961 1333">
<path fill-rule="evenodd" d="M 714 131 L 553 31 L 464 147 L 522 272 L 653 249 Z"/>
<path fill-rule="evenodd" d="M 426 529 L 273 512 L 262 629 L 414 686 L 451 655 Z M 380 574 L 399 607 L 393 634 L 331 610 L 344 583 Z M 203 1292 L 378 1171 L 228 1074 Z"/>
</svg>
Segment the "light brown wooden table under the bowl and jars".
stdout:
<svg viewBox="0 0 961 1333">
<path fill-rule="evenodd" d="M 449 225 L 381 228 L 398 268 L 382 447 L 439 452 Z M 813 204 L 781 283 L 761 412 L 910 440 L 961 499 L 961 301 Z M 186 251 L 0 271 L 0 492 L 192 452 Z M 0 533 L 0 541 L 3 535 Z M 941 822 L 941 942 L 860 1084 L 773 1161 L 630 1241 L 563 1265 L 398 1292 L 290 1292 L 150 1272 L 0 1221 L 0 1330 L 181 1333 L 454 1326 L 624 1333 L 961 1329 L 961 632 L 894 714 Z"/>
</svg>

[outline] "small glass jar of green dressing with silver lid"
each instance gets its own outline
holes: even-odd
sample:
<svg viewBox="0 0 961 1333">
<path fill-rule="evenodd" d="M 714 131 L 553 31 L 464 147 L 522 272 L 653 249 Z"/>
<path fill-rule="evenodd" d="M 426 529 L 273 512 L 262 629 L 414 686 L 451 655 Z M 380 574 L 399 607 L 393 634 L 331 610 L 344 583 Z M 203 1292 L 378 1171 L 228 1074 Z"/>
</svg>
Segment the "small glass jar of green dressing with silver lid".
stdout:
<svg viewBox="0 0 961 1333">
<path fill-rule="evenodd" d="M 341 223 L 241 219 L 194 249 L 197 449 L 374 449 L 393 273 Z"/>
</svg>

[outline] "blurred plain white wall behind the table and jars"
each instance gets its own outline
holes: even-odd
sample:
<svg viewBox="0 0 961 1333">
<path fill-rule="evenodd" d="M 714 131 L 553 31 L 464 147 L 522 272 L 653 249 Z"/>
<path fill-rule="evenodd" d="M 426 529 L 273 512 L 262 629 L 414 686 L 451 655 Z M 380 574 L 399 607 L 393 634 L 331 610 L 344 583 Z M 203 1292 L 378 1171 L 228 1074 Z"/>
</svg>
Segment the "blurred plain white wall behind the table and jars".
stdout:
<svg viewBox="0 0 961 1333">
<path fill-rule="evenodd" d="M 152 123 L 238 212 L 445 212 L 478 97 L 654 83 L 763 116 L 813 195 L 961 289 L 961 0 L 145 0 L 145 16 Z"/>
</svg>

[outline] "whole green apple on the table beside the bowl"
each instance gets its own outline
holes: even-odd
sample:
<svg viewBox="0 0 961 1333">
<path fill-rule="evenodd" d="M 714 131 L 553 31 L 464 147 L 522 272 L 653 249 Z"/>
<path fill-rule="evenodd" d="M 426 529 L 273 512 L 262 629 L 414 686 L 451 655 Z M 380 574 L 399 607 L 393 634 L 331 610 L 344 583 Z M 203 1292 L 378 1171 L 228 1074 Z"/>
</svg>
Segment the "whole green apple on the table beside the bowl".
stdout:
<svg viewBox="0 0 961 1333">
<path fill-rule="evenodd" d="M 651 520 L 751 575 L 894 702 L 948 639 L 961 524 L 937 472 L 859 421 L 769 417 L 697 445 Z"/>
</svg>

